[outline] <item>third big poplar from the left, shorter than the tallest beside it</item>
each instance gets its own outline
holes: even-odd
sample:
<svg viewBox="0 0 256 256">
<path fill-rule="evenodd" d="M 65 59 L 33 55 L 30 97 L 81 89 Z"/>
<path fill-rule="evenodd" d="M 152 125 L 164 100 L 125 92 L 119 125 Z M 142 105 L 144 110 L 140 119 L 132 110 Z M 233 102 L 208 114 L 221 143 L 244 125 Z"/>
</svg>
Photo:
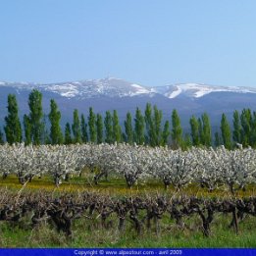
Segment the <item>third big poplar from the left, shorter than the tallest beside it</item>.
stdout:
<svg viewBox="0 0 256 256">
<path fill-rule="evenodd" d="M 54 99 L 51 99 L 50 102 L 50 141 L 51 144 L 62 144 L 63 143 L 63 133 L 60 126 L 61 121 L 61 112 L 58 109 L 58 105 Z"/>
</svg>

